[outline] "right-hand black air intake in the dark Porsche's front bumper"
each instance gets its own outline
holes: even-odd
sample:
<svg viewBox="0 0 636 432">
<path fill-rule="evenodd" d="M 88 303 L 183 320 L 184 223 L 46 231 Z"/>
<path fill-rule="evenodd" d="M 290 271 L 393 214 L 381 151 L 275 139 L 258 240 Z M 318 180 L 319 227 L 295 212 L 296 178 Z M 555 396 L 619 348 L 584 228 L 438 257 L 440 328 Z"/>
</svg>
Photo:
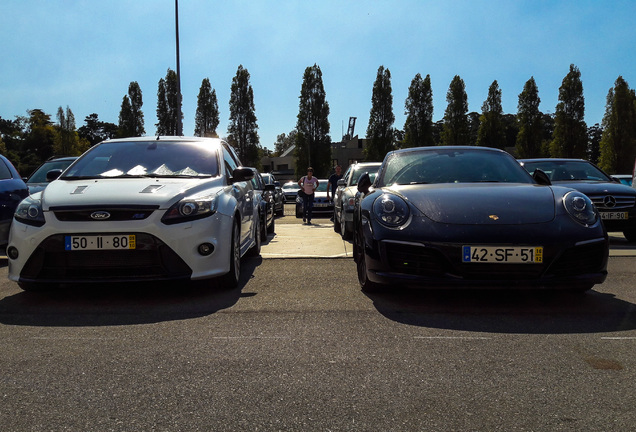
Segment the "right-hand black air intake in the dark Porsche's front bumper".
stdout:
<svg viewBox="0 0 636 432">
<path fill-rule="evenodd" d="M 550 266 L 547 274 L 554 276 L 574 276 L 603 271 L 607 255 L 605 242 L 575 246 L 567 249 Z"/>
</svg>

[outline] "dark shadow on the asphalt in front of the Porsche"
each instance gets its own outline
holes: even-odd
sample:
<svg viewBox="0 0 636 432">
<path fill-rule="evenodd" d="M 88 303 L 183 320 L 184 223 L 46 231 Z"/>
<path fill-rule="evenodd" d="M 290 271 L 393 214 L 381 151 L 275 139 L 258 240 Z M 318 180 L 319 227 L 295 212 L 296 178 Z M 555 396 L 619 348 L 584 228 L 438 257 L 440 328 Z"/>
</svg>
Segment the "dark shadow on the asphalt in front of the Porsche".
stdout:
<svg viewBox="0 0 636 432">
<path fill-rule="evenodd" d="M 396 289 L 367 294 L 401 324 L 485 333 L 576 334 L 636 329 L 635 305 L 612 294 Z"/>
</svg>

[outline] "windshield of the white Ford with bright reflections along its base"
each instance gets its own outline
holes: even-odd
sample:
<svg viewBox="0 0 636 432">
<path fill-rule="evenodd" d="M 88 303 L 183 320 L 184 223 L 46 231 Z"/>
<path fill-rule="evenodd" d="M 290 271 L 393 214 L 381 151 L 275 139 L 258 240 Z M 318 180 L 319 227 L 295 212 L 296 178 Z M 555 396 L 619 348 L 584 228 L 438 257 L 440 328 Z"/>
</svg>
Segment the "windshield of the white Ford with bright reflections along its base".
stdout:
<svg viewBox="0 0 636 432">
<path fill-rule="evenodd" d="M 213 177 L 216 151 L 201 143 L 105 142 L 86 152 L 63 179 L 113 177 Z"/>
</svg>

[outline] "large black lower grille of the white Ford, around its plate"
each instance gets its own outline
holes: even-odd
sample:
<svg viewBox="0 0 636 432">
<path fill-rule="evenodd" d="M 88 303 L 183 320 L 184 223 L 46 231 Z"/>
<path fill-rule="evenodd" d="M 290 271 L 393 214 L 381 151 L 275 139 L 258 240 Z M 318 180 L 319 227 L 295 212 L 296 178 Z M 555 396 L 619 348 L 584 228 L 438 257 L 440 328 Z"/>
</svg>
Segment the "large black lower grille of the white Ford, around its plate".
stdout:
<svg viewBox="0 0 636 432">
<path fill-rule="evenodd" d="M 42 281 L 155 280 L 186 278 L 188 265 L 158 238 L 137 233 L 134 250 L 64 250 L 64 235 L 47 238 L 31 255 L 20 277 Z"/>
</svg>

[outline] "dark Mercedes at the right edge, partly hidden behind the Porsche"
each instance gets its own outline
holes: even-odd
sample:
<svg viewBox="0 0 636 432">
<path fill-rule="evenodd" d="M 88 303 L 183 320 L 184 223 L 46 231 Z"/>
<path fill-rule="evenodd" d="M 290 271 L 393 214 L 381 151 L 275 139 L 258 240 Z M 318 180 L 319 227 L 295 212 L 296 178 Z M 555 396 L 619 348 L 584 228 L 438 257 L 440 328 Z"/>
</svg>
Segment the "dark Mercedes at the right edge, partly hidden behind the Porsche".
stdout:
<svg viewBox="0 0 636 432">
<path fill-rule="evenodd" d="M 530 174 L 543 171 L 553 185 L 576 189 L 587 195 L 598 209 L 607 231 L 621 231 L 636 242 L 636 189 L 613 179 L 583 159 L 520 159 Z"/>
</svg>

